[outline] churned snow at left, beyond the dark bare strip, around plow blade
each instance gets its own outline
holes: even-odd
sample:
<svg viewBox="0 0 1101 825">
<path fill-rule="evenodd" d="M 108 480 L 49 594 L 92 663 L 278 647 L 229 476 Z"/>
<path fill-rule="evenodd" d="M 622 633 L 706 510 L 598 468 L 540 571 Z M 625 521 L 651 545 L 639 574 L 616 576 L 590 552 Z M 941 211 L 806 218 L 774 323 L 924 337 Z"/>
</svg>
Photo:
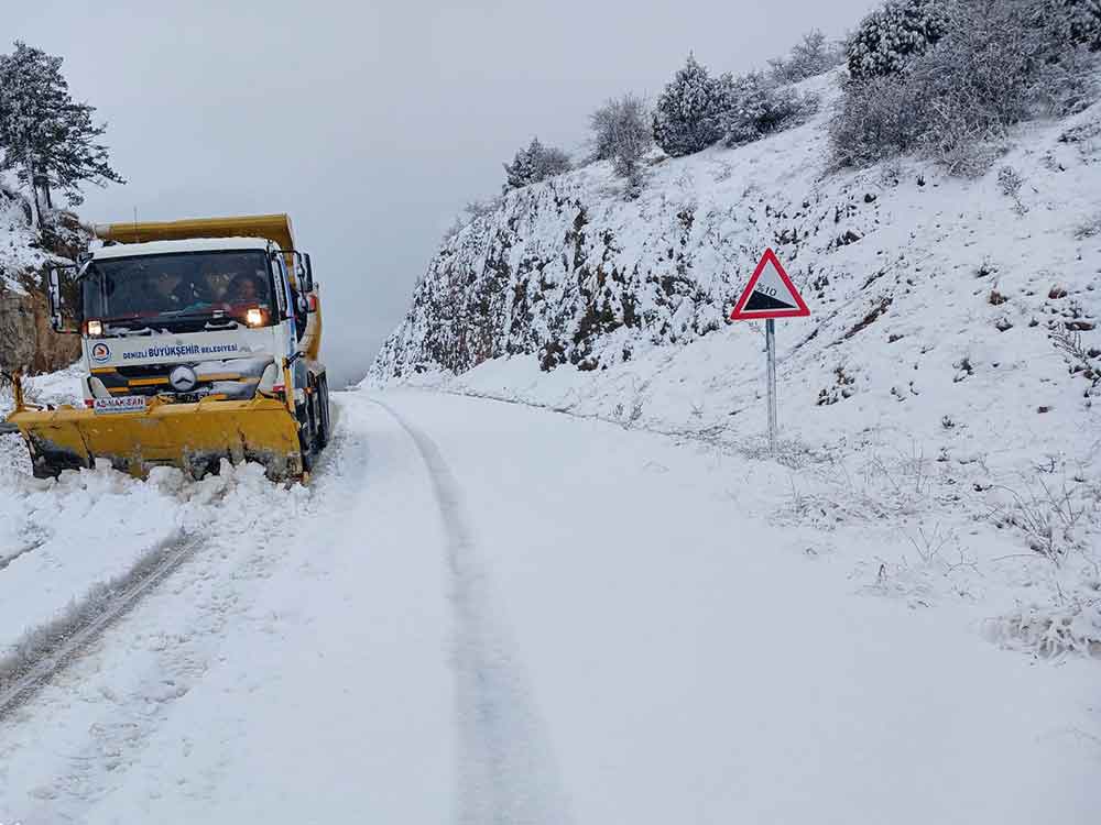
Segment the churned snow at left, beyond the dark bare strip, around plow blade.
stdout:
<svg viewBox="0 0 1101 825">
<path fill-rule="evenodd" d="M 24 382 L 33 403 L 80 397 L 78 365 Z M 0 411 L 10 405 L 10 394 L 0 398 Z M 259 466 L 227 465 L 195 484 L 159 468 L 143 483 L 105 461 L 39 480 L 22 440 L 0 438 L 0 686 L 48 641 L 43 634 L 67 632 L 165 547 L 230 541 L 287 506 L 294 495 Z"/>
</svg>

